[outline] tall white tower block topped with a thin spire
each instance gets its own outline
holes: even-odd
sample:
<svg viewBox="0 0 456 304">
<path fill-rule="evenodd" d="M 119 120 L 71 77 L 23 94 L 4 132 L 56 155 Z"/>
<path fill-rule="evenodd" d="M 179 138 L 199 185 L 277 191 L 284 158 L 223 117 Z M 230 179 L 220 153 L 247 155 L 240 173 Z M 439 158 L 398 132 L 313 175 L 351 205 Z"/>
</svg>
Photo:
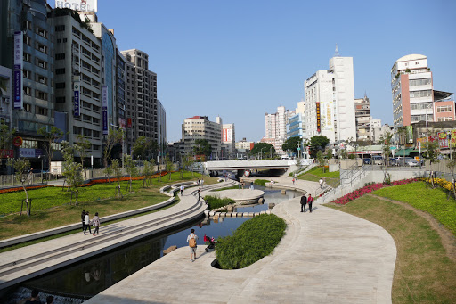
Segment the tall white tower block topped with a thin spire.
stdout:
<svg viewBox="0 0 456 304">
<path fill-rule="evenodd" d="M 329 70 L 307 78 L 305 88 L 306 136 L 326 136 L 331 142 L 356 138 L 353 58 L 330 59 Z"/>
</svg>

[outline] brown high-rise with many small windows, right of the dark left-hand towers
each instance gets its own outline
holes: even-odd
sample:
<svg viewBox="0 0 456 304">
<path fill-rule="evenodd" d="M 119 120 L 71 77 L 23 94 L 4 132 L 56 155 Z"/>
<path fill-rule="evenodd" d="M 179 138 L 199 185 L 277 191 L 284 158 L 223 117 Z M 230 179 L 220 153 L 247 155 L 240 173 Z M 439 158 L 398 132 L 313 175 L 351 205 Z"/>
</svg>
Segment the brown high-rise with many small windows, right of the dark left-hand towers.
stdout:
<svg viewBox="0 0 456 304">
<path fill-rule="evenodd" d="M 149 70 L 149 55 L 137 49 L 122 51 L 122 54 L 126 57 L 126 120 L 127 127 L 131 128 L 128 147 L 130 149 L 139 136 L 162 144 L 159 112 L 164 109 L 157 99 L 157 74 Z"/>
</svg>

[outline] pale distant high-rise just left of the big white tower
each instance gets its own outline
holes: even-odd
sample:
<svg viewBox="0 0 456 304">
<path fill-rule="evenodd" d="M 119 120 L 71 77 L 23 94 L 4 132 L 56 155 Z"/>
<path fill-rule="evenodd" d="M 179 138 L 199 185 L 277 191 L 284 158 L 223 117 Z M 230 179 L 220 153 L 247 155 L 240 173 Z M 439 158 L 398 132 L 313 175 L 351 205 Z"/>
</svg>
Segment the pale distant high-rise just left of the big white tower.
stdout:
<svg viewBox="0 0 456 304">
<path fill-rule="evenodd" d="M 281 146 L 287 140 L 287 123 L 294 115 L 295 111 L 286 110 L 284 106 L 277 107 L 273 114 L 265 113 L 265 137 L 261 142 L 272 144 L 275 151 L 282 154 Z"/>
</svg>

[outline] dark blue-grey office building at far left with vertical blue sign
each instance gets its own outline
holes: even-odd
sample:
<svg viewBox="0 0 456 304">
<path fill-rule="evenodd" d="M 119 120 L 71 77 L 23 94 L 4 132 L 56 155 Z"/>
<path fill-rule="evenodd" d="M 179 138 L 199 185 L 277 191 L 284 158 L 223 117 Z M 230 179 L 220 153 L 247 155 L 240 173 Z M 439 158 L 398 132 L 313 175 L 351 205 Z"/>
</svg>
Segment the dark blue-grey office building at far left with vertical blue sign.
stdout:
<svg viewBox="0 0 456 304">
<path fill-rule="evenodd" d="M 37 158 L 44 147 L 37 130 L 54 125 L 54 28 L 47 18 L 51 10 L 41 0 L 0 4 L 1 78 L 7 84 L 1 115 L 23 139 L 16 156 L 28 158 L 32 166 L 40 163 Z"/>
</svg>

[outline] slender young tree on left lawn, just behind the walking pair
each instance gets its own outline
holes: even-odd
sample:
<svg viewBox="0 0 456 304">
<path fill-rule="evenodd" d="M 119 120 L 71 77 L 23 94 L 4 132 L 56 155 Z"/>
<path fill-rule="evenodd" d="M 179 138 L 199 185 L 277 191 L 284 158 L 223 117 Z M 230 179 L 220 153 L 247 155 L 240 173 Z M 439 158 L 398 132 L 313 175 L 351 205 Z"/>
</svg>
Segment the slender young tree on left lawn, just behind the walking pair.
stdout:
<svg viewBox="0 0 456 304">
<path fill-rule="evenodd" d="M 77 205 L 77 198 L 79 197 L 79 185 L 84 182 L 84 179 L 82 177 L 82 164 L 74 161 L 74 155 L 77 149 L 77 146 L 64 144 L 64 147 L 61 150 L 64 160 L 61 166 L 63 170 L 63 176 L 67 180 L 69 190 L 71 191 L 71 199 L 69 201 L 69 204 L 72 203 L 73 193 L 75 193 L 75 206 Z"/>
</svg>

